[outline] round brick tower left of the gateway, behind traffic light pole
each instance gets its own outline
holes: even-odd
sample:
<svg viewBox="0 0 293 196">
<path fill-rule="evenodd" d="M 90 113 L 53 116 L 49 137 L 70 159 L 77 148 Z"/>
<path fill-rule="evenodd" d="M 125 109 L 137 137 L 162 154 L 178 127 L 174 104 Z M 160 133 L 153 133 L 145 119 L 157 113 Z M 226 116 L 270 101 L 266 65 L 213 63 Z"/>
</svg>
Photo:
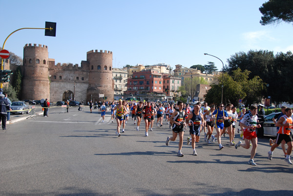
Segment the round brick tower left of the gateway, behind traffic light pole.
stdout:
<svg viewBox="0 0 293 196">
<path fill-rule="evenodd" d="M 22 99 L 50 98 L 48 47 L 26 44 L 23 47 Z"/>
</svg>

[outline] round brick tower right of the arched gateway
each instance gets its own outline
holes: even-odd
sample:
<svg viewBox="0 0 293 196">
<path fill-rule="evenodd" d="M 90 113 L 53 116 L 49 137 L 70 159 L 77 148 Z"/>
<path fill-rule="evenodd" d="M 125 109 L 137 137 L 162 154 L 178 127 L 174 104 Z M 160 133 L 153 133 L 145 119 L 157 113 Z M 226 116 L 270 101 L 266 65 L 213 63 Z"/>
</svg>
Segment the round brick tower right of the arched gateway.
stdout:
<svg viewBox="0 0 293 196">
<path fill-rule="evenodd" d="M 112 82 L 112 52 L 103 50 L 91 50 L 86 53 L 86 61 L 89 63 L 88 88 L 86 100 L 105 100 L 99 98 L 104 94 L 106 100 L 114 100 L 114 86 Z"/>
</svg>

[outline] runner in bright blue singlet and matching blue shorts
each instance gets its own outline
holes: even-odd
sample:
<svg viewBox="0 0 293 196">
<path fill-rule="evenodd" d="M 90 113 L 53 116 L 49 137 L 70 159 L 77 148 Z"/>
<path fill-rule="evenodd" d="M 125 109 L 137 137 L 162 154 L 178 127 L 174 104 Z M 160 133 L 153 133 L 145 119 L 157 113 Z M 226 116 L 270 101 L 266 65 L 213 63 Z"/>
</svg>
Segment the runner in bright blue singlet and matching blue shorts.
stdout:
<svg viewBox="0 0 293 196">
<path fill-rule="evenodd" d="M 228 114 L 227 112 L 224 110 L 224 104 L 220 103 L 219 104 L 219 108 L 216 109 L 212 115 L 215 115 L 215 127 L 216 127 L 216 131 L 217 131 L 217 139 L 218 139 L 218 143 L 219 143 L 219 149 L 223 149 L 224 146 L 221 144 L 221 135 L 222 135 L 222 131 L 224 128 L 224 120 L 228 119 Z M 212 137 L 212 141 L 215 141 L 215 136 L 211 135 Z"/>
</svg>

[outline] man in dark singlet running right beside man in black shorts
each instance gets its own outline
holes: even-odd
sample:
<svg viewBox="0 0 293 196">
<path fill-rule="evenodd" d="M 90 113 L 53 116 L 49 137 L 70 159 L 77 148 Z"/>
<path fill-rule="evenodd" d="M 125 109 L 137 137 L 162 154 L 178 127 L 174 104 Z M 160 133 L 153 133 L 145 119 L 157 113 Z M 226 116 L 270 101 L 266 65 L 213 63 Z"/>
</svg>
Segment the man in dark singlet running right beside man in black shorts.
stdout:
<svg viewBox="0 0 293 196">
<path fill-rule="evenodd" d="M 191 135 L 191 146 L 193 149 L 192 155 L 194 156 L 197 156 L 197 153 L 195 150 L 195 142 L 199 142 L 200 130 L 204 121 L 204 115 L 200 113 L 199 110 L 200 110 L 199 105 L 194 106 L 193 112 L 188 114 L 188 118 L 186 119 L 186 123 L 188 124 L 190 128 L 189 134 Z M 189 141 L 189 139 L 190 138 L 188 137 L 187 140 Z M 187 142 L 188 145 L 189 143 Z"/>
</svg>

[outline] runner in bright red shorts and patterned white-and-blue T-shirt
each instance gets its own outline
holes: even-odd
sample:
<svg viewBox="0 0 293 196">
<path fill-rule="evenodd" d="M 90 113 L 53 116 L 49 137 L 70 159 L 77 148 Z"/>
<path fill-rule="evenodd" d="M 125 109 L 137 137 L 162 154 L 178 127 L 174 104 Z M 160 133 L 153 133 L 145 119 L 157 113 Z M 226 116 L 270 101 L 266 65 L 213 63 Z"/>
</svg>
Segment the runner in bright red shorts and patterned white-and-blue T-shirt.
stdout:
<svg viewBox="0 0 293 196">
<path fill-rule="evenodd" d="M 257 137 L 255 132 L 255 127 L 259 128 L 260 124 L 256 125 L 257 123 L 257 106 L 251 105 L 250 112 L 242 118 L 240 121 L 240 124 L 244 128 L 243 136 L 245 140 L 245 144 L 242 144 L 241 140 L 238 141 L 238 143 L 235 145 L 235 148 L 242 147 L 245 149 L 250 148 L 250 142 L 252 143 L 252 149 L 251 149 L 251 158 L 248 161 L 248 164 L 250 165 L 256 165 L 256 163 L 253 160 L 253 157 L 256 153 L 256 147 L 257 147 Z"/>
</svg>

